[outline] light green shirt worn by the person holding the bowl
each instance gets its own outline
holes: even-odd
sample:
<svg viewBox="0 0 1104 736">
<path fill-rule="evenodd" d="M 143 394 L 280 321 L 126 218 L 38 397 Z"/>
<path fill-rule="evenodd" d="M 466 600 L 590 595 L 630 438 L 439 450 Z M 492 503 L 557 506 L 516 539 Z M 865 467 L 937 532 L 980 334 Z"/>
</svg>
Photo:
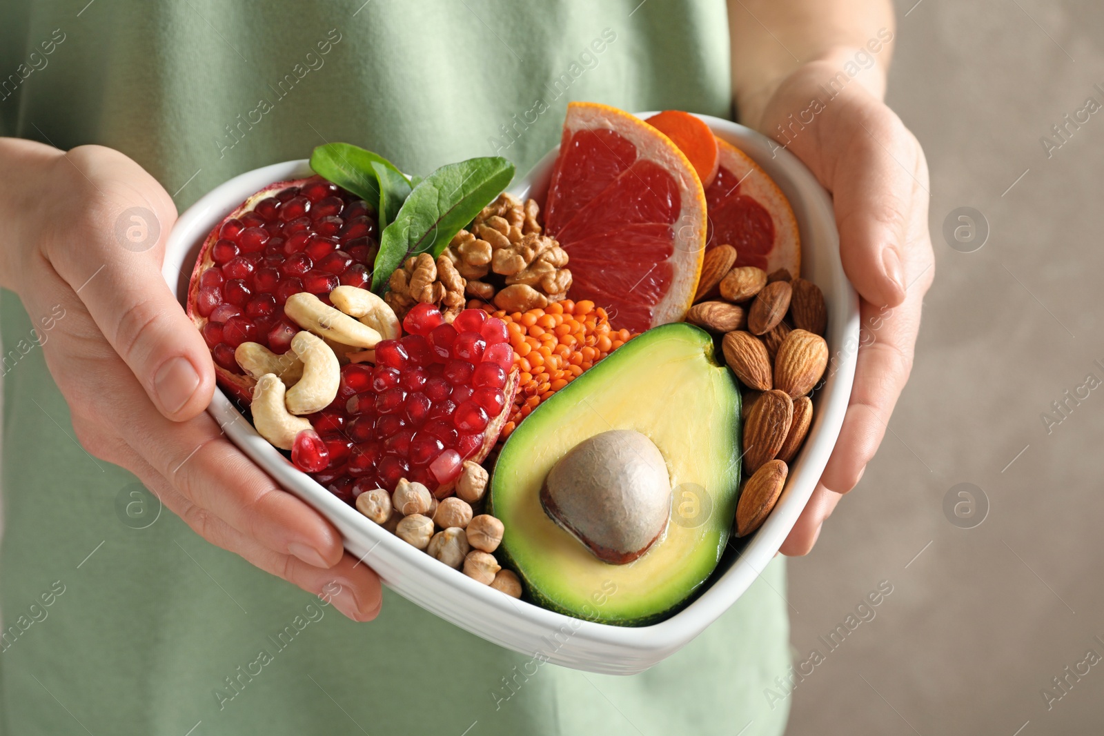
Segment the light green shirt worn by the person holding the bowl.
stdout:
<svg viewBox="0 0 1104 736">
<path fill-rule="evenodd" d="M 0 134 L 119 149 L 181 211 L 326 140 L 412 173 L 492 153 L 523 172 L 572 99 L 731 109 L 721 0 L 3 0 L 0 19 Z M 390 591 L 357 625 L 85 452 L 18 298 L 0 306 L 0 734 L 782 732 L 781 562 L 630 678 L 534 671 Z"/>
</svg>

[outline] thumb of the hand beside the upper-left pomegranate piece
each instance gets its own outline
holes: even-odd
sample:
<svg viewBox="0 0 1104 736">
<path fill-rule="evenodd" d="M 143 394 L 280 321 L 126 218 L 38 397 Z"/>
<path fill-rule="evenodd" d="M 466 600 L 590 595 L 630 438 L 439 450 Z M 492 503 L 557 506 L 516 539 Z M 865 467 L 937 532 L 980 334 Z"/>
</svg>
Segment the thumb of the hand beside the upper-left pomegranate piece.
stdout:
<svg viewBox="0 0 1104 736">
<path fill-rule="evenodd" d="M 47 257 L 158 410 L 169 419 L 190 419 L 211 401 L 214 366 L 161 275 L 176 206 L 121 153 L 81 147 L 66 157 L 97 195 L 88 198 L 76 227 L 60 234 L 62 242 L 53 243 Z"/>
</svg>

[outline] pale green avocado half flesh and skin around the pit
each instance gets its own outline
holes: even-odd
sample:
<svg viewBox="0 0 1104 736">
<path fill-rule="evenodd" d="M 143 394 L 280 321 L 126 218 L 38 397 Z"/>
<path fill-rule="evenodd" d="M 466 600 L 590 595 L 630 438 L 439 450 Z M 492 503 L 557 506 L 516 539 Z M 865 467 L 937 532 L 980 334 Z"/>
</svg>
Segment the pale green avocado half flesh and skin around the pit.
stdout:
<svg viewBox="0 0 1104 736">
<path fill-rule="evenodd" d="M 646 435 L 673 490 L 667 531 L 639 558 L 595 557 L 553 522 L 540 492 L 575 445 L 611 429 Z M 740 391 L 713 340 L 686 323 L 648 330 L 541 404 L 510 435 L 490 504 L 501 550 L 533 600 L 576 618 L 643 626 L 673 615 L 716 567 L 740 484 Z"/>
</svg>

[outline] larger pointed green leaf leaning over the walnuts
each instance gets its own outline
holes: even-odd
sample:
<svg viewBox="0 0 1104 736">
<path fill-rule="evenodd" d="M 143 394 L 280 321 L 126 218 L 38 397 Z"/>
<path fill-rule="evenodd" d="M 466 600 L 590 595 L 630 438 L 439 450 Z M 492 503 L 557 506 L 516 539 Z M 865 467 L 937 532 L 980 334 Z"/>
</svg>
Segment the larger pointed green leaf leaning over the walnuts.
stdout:
<svg viewBox="0 0 1104 736">
<path fill-rule="evenodd" d="M 372 273 L 372 290 L 388 290 L 391 274 L 420 253 L 434 258 L 460 228 L 491 203 L 513 179 L 513 164 L 501 157 L 447 163 L 411 192 L 394 222 L 383 230 Z"/>
</svg>

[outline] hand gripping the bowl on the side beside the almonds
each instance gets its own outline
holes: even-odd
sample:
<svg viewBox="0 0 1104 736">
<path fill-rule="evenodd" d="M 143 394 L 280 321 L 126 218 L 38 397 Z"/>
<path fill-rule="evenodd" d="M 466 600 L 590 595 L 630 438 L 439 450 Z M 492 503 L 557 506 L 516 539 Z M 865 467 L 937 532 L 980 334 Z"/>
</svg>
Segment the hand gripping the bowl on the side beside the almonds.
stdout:
<svg viewBox="0 0 1104 736">
<path fill-rule="evenodd" d="M 916 138 L 875 89 L 841 74 L 839 49 L 786 76 L 746 125 L 797 156 L 832 194 L 843 269 L 860 297 L 854 387 L 839 440 L 783 554 L 813 548 L 840 495 L 851 490 L 885 434 L 909 380 L 924 292 L 934 276 L 927 232 L 927 164 Z M 834 97 L 829 81 L 849 79 Z M 815 104 L 814 100 L 817 100 Z M 796 122 L 795 122 L 796 121 Z"/>
</svg>

